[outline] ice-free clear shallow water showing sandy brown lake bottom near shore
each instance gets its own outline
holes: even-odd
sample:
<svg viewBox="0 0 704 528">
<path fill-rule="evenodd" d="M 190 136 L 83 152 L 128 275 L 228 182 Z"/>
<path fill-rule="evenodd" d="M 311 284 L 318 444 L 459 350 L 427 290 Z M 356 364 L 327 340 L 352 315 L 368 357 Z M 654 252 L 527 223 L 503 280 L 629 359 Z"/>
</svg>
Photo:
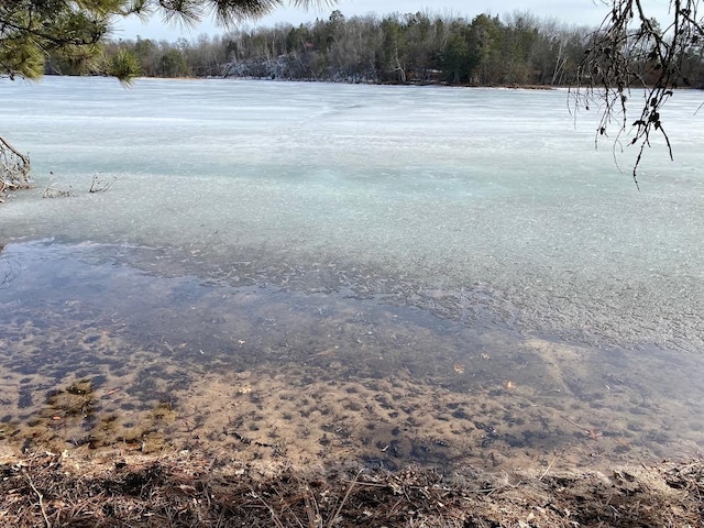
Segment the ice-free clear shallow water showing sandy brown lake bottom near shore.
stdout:
<svg viewBox="0 0 704 528">
<path fill-rule="evenodd" d="M 334 263 L 321 273 L 344 285 L 312 288 L 201 257 L 7 245 L 0 440 L 392 471 L 600 468 L 704 442 L 697 354 L 531 333 L 481 306 L 488 289 L 451 310 L 447 293 L 380 293 Z"/>
</svg>

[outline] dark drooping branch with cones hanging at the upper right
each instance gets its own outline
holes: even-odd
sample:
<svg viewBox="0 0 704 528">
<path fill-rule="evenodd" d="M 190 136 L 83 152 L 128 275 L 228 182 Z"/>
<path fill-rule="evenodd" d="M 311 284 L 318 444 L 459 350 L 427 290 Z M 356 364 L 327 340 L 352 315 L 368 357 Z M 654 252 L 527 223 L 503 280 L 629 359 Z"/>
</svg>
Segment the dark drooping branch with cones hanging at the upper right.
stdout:
<svg viewBox="0 0 704 528">
<path fill-rule="evenodd" d="M 575 108 L 602 105 L 596 141 L 616 123 L 618 134 L 631 134 L 628 144 L 638 145 L 632 177 L 638 185 L 638 167 L 645 148 L 659 133 L 670 158 L 672 144 L 662 121 L 662 110 L 676 88 L 689 86 L 685 62 L 698 52 L 704 26 L 697 15 L 698 0 L 671 0 L 669 25 L 661 28 L 649 18 L 642 0 L 612 0 L 610 13 L 591 36 L 571 91 Z M 632 90 L 644 92 L 639 116 L 630 122 L 628 105 Z M 638 111 L 638 110 L 636 110 Z"/>
</svg>

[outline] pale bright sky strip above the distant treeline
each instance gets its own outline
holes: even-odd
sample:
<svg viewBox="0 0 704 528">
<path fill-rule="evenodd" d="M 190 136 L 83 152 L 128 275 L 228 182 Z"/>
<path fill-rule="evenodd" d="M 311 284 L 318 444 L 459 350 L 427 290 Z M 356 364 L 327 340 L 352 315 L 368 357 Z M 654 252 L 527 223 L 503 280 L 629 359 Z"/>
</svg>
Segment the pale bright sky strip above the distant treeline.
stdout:
<svg viewBox="0 0 704 528">
<path fill-rule="evenodd" d="M 650 7 L 650 13 L 657 18 L 667 16 L 669 0 L 646 0 L 645 6 Z M 333 9 L 339 9 L 345 16 L 363 15 L 375 12 L 380 15 L 399 12 L 415 13 L 428 11 L 431 14 L 451 14 L 472 19 L 480 13 L 491 13 L 504 16 L 515 11 L 529 11 L 540 18 L 552 18 L 566 24 L 595 26 L 608 13 L 609 8 L 603 0 L 339 0 L 334 7 L 321 10 L 301 10 L 284 8 L 274 14 L 256 22 L 246 22 L 242 26 L 266 25 L 274 26 L 278 23 L 300 23 L 328 19 Z M 206 21 L 190 30 L 179 26 L 167 26 L 161 23 L 158 18 L 152 19 L 147 24 L 140 20 L 130 19 L 122 22 L 116 33 L 117 38 L 134 38 L 138 35 L 143 38 L 157 38 L 175 41 L 179 37 L 188 40 L 207 33 L 210 35 L 224 33 L 211 21 Z"/>
</svg>

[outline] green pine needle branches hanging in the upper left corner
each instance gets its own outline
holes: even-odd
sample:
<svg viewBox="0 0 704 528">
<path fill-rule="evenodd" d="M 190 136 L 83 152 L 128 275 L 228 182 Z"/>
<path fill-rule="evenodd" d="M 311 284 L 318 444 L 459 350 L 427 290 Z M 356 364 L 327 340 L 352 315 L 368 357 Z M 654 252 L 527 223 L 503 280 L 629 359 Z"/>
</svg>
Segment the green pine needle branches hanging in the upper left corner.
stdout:
<svg viewBox="0 0 704 528">
<path fill-rule="evenodd" d="M 300 7 L 334 0 L 292 0 Z M 257 18 L 284 0 L 2 0 L 0 75 L 36 79 L 51 54 L 74 72 L 105 73 L 129 81 L 140 73 L 127 54 L 103 59 L 103 43 L 116 19 L 161 14 L 164 20 L 198 22 L 213 12 L 222 25 Z"/>
</svg>

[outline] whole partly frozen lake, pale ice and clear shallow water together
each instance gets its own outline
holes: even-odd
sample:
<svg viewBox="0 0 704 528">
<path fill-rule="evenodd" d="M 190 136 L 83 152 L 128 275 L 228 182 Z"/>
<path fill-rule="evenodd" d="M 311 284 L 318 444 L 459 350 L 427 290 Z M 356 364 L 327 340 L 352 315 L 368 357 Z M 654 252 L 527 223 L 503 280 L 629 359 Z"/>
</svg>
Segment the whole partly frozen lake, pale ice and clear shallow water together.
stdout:
<svg viewBox="0 0 704 528">
<path fill-rule="evenodd" d="M 596 117 L 575 121 L 563 90 L 47 78 L 0 95 L 36 183 L 0 209 L 8 439 L 51 425 L 44 392 L 90 378 L 130 387 L 91 416 L 166 402 L 180 418 L 133 438 L 175 441 L 185 420 L 210 446 L 237 443 L 213 431 L 240 421 L 271 446 L 253 417 L 293 410 L 248 396 L 243 421 L 199 414 L 206 387 L 354 394 L 320 411 L 311 442 L 387 465 L 542 463 L 565 446 L 574 463 L 635 460 L 704 440 L 698 92 L 670 105 L 675 161 L 654 141 L 640 191 L 635 153 L 617 153 L 622 174 L 612 144 L 594 151 Z M 50 172 L 74 196 L 42 199 Z M 89 194 L 95 174 L 118 180 Z M 417 405 L 391 410 L 406 443 L 354 410 L 394 391 Z M 338 430 L 344 413 L 380 437 Z M 96 443 L 98 418 L 79 418 Z M 292 450 L 312 452 L 290 427 Z"/>
</svg>

